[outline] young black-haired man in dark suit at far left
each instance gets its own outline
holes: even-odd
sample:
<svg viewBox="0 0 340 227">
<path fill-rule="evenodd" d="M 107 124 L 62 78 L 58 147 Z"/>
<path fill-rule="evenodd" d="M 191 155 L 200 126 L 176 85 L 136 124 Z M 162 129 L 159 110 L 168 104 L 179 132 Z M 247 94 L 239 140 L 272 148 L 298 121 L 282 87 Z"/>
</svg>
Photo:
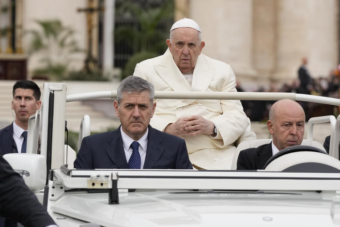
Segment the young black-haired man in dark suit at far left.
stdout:
<svg viewBox="0 0 340 227">
<path fill-rule="evenodd" d="M 28 121 L 40 109 L 40 96 L 40 88 L 33 81 L 21 80 L 14 84 L 12 110 L 15 120 L 0 130 L 2 154 L 26 152 Z"/>
</svg>

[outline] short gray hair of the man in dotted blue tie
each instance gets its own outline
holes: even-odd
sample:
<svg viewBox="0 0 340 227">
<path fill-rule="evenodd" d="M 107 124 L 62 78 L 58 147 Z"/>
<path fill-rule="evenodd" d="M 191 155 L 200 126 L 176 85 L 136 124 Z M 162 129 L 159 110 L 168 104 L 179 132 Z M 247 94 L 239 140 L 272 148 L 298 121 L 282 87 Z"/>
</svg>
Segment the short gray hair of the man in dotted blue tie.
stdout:
<svg viewBox="0 0 340 227">
<path fill-rule="evenodd" d="M 148 91 L 150 95 L 150 101 L 154 100 L 155 88 L 154 85 L 140 77 L 128 76 L 126 77 L 117 88 L 117 102 L 118 105 L 121 104 L 123 98 L 123 92 L 133 93 L 133 92 L 143 92 Z"/>
</svg>

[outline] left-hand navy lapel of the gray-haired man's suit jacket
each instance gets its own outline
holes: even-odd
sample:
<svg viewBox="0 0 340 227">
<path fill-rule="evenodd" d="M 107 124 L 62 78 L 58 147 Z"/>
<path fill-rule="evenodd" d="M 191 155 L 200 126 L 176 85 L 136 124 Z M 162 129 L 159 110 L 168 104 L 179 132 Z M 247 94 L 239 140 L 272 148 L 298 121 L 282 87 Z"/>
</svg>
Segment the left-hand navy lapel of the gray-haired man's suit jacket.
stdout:
<svg viewBox="0 0 340 227">
<path fill-rule="evenodd" d="M 120 127 L 117 130 L 112 131 L 108 141 L 104 144 L 104 148 L 108 157 L 110 157 L 111 161 L 115 163 L 119 169 L 129 168 L 129 165 L 126 162 Z"/>
</svg>

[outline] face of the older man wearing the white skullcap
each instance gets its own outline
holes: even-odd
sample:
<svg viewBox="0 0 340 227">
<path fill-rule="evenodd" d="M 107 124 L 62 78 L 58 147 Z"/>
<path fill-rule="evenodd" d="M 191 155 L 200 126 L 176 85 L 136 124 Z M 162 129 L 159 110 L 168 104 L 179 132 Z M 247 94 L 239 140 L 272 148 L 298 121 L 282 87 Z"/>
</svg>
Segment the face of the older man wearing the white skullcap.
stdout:
<svg viewBox="0 0 340 227">
<path fill-rule="evenodd" d="M 190 72 L 204 47 L 199 32 L 192 28 L 178 28 L 173 30 L 171 39 L 167 39 L 167 44 L 177 67 L 182 73 Z"/>
</svg>

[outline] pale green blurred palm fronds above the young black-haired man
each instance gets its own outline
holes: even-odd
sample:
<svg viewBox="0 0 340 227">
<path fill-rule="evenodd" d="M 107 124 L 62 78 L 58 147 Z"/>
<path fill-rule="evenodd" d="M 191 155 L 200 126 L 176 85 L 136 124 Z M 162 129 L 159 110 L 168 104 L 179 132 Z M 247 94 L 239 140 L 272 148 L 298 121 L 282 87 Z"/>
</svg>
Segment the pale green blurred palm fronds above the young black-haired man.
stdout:
<svg viewBox="0 0 340 227">
<path fill-rule="evenodd" d="M 83 52 L 74 39 L 74 30 L 62 25 L 60 20 L 35 20 L 39 29 L 26 31 L 31 35 L 28 53 L 40 54 L 41 66 L 33 69 L 33 75 L 47 76 L 51 80 L 63 80 L 74 54 Z"/>
</svg>

